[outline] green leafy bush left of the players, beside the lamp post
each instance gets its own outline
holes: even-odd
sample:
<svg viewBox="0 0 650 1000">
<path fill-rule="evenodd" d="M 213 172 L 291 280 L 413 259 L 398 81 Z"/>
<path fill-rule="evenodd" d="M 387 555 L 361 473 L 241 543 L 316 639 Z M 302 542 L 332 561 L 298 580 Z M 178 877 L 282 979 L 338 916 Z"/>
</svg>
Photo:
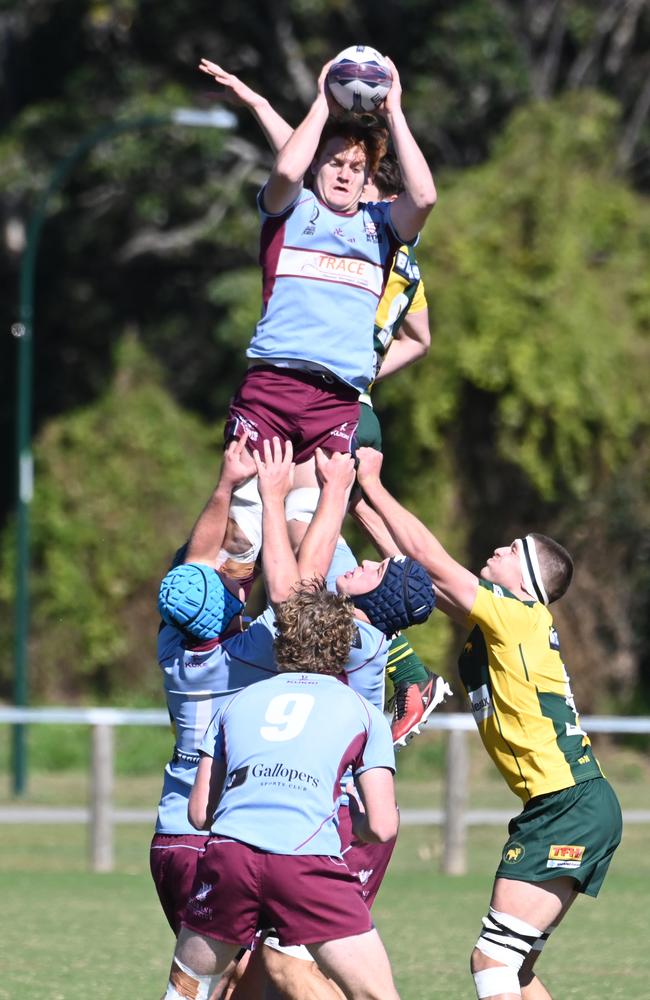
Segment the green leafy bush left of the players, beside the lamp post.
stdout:
<svg viewBox="0 0 650 1000">
<path fill-rule="evenodd" d="M 208 496 L 212 438 L 175 406 L 133 335 L 117 346 L 109 390 L 44 429 L 32 575 L 41 692 L 158 689 L 157 580 Z"/>
</svg>

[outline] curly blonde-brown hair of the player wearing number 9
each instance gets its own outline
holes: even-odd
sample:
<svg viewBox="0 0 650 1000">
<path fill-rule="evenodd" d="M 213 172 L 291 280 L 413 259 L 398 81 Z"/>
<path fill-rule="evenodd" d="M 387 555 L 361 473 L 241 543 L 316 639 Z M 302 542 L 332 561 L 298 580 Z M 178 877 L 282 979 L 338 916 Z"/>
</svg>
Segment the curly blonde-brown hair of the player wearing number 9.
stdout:
<svg viewBox="0 0 650 1000">
<path fill-rule="evenodd" d="M 354 606 L 321 579 L 301 580 L 275 612 L 273 644 L 280 670 L 340 674 L 355 637 Z"/>
</svg>

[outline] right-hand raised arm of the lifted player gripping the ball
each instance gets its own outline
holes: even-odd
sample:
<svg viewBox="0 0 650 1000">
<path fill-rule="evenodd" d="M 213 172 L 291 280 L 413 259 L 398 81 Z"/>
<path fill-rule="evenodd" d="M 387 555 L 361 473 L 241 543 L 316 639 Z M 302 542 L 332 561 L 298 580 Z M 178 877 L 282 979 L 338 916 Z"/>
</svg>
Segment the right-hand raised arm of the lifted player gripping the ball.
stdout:
<svg viewBox="0 0 650 1000">
<path fill-rule="evenodd" d="M 429 165 L 404 116 L 397 67 L 390 59 L 388 63 L 393 82 L 379 111 L 386 118 L 404 182 L 404 191 L 392 203 L 390 213 L 400 239 L 410 243 L 422 229 L 438 195 Z"/>
</svg>

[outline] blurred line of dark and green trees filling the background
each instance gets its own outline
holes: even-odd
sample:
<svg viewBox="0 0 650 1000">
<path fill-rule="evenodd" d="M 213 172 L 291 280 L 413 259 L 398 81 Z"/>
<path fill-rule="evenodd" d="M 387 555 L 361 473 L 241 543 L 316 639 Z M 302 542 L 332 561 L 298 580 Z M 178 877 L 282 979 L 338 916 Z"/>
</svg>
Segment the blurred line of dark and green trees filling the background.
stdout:
<svg viewBox="0 0 650 1000">
<path fill-rule="evenodd" d="M 650 677 L 648 7 L 3 5 L 7 384 L 25 225 L 75 143 L 102 122 L 214 106 L 202 55 L 297 123 L 322 63 L 352 42 L 375 45 L 400 69 L 440 190 L 418 250 L 431 352 L 375 393 L 389 485 L 474 567 L 525 529 L 565 541 L 578 571 L 558 625 L 579 703 L 640 705 Z M 254 201 L 271 161 L 253 121 L 237 116 L 226 132 L 125 132 L 91 149 L 52 200 L 35 312 L 40 697 L 157 693 L 156 582 L 216 476 L 259 313 Z M 14 403 L 9 389 L 8 469 Z M 14 492 L 7 475 L 5 648 Z M 458 637 L 435 616 L 420 631 L 420 651 L 444 668 Z M 2 697 L 10 671 L 5 658 Z"/>
</svg>

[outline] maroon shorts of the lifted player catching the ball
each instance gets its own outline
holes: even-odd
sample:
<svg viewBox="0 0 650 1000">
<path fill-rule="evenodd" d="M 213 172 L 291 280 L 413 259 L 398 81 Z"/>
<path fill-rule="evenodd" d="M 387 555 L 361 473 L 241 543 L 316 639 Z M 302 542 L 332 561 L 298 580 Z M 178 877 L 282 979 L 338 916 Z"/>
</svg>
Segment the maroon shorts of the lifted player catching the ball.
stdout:
<svg viewBox="0 0 650 1000">
<path fill-rule="evenodd" d="M 316 451 L 349 452 L 359 423 L 359 394 L 333 376 L 254 365 L 230 403 L 225 440 L 247 430 L 250 451 L 274 437 L 291 441 L 296 462 Z"/>
</svg>

